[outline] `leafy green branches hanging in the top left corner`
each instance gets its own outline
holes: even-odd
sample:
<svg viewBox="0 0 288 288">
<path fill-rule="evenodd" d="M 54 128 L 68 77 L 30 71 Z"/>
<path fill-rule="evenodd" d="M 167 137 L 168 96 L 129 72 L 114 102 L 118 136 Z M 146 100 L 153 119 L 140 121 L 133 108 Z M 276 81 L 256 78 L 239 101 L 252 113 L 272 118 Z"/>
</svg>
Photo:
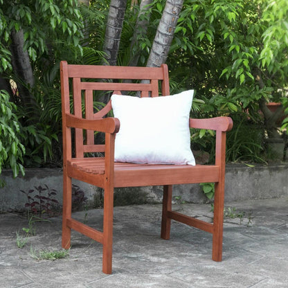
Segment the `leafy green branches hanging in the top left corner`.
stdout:
<svg viewBox="0 0 288 288">
<path fill-rule="evenodd" d="M 50 55 L 53 51 L 51 40 L 61 39 L 60 36 L 67 43 L 81 49 L 79 42 L 82 38 L 82 21 L 77 4 L 76 0 L 40 0 L 26 3 L 19 0 L 12 3 L 5 1 L 0 8 L 0 55 L 3 56 L 0 71 L 12 69 L 9 51 L 9 36 L 12 30 L 23 30 L 24 50 L 28 51 L 33 62 Z"/>
</svg>

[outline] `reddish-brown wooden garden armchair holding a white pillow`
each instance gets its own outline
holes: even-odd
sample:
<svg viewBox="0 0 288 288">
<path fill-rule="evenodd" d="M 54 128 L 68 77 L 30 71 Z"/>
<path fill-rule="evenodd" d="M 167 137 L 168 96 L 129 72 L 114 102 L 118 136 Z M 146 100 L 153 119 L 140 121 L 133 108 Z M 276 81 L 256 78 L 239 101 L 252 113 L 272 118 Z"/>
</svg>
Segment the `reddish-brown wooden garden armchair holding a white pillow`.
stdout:
<svg viewBox="0 0 288 288">
<path fill-rule="evenodd" d="M 96 93 L 95 91 L 117 91 L 117 93 L 140 91 L 141 97 L 155 97 L 159 95 L 160 87 L 161 94 L 168 96 L 170 92 L 167 65 L 163 64 L 156 68 L 88 66 L 71 65 L 62 61 L 60 68 L 64 149 L 63 248 L 69 249 L 71 246 L 71 229 L 91 237 L 103 245 L 102 271 L 111 273 L 114 188 L 163 185 L 161 237 L 165 240 L 169 239 L 171 219 L 207 231 L 213 234 L 212 259 L 221 261 L 226 131 L 232 128 L 231 118 L 190 119 L 190 127 L 216 131 L 215 165 L 114 163 L 114 141 L 120 122 L 117 118 L 107 117 L 111 110 L 111 100 L 102 110 L 95 113 L 93 93 Z M 149 81 L 135 82 L 134 80 Z M 94 143 L 95 132 L 105 133 L 105 145 Z M 102 156 L 91 156 L 93 152 L 101 152 Z M 71 179 L 78 179 L 104 189 L 102 231 L 71 217 Z M 173 184 L 205 182 L 215 182 L 213 223 L 172 210 Z"/>
</svg>

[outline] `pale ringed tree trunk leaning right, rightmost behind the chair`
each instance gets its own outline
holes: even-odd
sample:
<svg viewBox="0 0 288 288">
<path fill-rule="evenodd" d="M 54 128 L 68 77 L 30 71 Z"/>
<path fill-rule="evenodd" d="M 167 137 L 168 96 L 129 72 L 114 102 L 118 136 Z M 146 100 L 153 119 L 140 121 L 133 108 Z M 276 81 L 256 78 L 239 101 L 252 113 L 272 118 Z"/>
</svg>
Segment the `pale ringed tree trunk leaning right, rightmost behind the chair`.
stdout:
<svg viewBox="0 0 288 288">
<path fill-rule="evenodd" d="M 167 0 L 146 66 L 159 67 L 166 62 L 183 0 Z"/>
</svg>

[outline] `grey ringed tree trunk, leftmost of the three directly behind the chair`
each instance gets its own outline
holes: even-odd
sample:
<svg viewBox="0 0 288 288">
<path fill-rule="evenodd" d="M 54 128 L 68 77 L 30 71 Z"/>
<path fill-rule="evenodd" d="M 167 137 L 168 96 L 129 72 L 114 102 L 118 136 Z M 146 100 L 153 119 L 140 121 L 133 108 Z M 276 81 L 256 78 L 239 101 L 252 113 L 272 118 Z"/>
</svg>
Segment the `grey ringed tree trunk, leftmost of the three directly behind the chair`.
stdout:
<svg viewBox="0 0 288 288">
<path fill-rule="evenodd" d="M 103 51 L 109 65 L 115 66 L 123 28 L 127 0 L 111 0 Z"/>
</svg>

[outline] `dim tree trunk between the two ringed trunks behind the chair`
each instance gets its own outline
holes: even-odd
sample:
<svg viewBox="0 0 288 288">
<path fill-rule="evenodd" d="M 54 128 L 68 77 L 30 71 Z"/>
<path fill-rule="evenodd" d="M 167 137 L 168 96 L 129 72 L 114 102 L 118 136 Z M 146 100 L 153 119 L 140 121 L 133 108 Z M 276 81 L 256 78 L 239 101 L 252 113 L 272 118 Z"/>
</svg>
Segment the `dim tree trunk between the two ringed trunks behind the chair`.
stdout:
<svg viewBox="0 0 288 288">
<path fill-rule="evenodd" d="M 137 17 L 136 25 L 134 28 L 134 34 L 131 42 L 131 48 L 130 48 L 131 59 L 129 61 L 129 66 L 137 66 L 138 64 L 141 51 L 138 47 L 138 39 L 141 36 L 146 35 L 147 33 L 147 26 L 149 24 L 149 18 L 151 15 L 151 12 L 147 12 L 147 10 L 149 10 L 151 3 L 152 0 L 142 0 L 140 3 L 139 14 Z M 143 15 L 145 15 L 146 17 L 141 19 Z"/>
</svg>

